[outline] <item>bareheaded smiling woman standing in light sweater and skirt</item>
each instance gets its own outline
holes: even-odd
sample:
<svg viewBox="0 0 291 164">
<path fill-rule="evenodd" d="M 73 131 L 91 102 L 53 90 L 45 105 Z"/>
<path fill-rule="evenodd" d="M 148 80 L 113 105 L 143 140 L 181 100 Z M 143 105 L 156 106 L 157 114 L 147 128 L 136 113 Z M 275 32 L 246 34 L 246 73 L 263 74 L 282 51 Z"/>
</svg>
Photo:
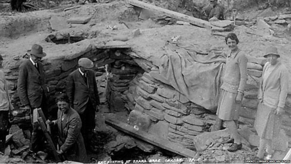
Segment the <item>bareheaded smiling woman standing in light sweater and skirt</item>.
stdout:
<svg viewBox="0 0 291 164">
<path fill-rule="evenodd" d="M 230 51 L 227 54 L 225 75 L 220 88 L 216 115 L 218 119 L 225 122 L 231 137 L 234 139 L 232 140 L 233 144 L 227 150 L 236 151 L 242 148 L 236 122 L 239 119 L 239 108 L 247 82 L 247 58 L 237 46 L 239 39 L 235 33 L 229 33 L 225 42 Z"/>
</svg>

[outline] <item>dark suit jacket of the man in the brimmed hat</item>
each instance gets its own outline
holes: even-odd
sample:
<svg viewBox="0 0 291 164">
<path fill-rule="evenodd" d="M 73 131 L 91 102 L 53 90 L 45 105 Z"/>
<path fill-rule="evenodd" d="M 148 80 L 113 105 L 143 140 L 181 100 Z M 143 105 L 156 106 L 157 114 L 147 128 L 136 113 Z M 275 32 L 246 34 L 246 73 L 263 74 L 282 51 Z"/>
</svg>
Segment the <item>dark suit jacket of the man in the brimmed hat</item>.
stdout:
<svg viewBox="0 0 291 164">
<path fill-rule="evenodd" d="M 38 62 L 38 70 L 28 59 L 19 66 L 17 91 L 23 105 L 39 108 L 43 94 L 47 94 L 43 65 Z"/>
</svg>

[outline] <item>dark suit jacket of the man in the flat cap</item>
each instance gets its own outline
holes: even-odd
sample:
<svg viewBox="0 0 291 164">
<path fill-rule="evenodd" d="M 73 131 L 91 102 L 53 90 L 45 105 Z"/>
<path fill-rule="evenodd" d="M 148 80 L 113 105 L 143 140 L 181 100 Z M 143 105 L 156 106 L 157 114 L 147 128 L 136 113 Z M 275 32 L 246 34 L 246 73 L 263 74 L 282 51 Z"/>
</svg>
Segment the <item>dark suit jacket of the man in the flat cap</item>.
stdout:
<svg viewBox="0 0 291 164">
<path fill-rule="evenodd" d="M 89 100 L 93 107 L 100 104 L 94 71 L 88 71 L 86 84 L 79 69 L 74 70 L 69 74 L 66 85 L 71 105 L 79 114 L 85 111 Z"/>
</svg>

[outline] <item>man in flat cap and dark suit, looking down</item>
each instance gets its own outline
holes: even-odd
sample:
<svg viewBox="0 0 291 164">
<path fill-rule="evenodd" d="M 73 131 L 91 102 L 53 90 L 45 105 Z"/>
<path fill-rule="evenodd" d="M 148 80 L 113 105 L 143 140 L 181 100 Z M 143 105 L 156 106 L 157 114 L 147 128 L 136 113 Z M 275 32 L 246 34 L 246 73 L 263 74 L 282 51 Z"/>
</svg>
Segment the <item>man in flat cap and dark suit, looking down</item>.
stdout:
<svg viewBox="0 0 291 164">
<path fill-rule="evenodd" d="M 81 133 L 87 150 L 95 128 L 95 111 L 99 109 L 99 95 L 93 62 L 88 58 L 78 61 L 79 68 L 69 74 L 66 85 L 71 106 L 78 112 L 82 120 Z"/>
</svg>

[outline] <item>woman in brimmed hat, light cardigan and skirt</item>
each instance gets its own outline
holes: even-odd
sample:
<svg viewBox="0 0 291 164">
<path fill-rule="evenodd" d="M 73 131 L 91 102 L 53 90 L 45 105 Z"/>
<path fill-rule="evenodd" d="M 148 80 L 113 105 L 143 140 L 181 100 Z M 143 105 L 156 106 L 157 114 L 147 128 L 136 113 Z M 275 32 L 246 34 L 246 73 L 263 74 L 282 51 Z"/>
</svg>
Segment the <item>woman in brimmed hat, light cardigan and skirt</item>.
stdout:
<svg viewBox="0 0 291 164">
<path fill-rule="evenodd" d="M 268 62 L 264 65 L 259 87 L 259 105 L 254 127 L 260 137 L 257 160 L 264 158 L 267 148 L 267 160 L 270 160 L 274 151 L 275 140 L 279 138 L 281 114 L 284 113 L 285 101 L 288 93 L 289 73 L 287 68 L 278 61 L 280 57 L 277 48 L 267 47 L 264 55 Z"/>
</svg>

